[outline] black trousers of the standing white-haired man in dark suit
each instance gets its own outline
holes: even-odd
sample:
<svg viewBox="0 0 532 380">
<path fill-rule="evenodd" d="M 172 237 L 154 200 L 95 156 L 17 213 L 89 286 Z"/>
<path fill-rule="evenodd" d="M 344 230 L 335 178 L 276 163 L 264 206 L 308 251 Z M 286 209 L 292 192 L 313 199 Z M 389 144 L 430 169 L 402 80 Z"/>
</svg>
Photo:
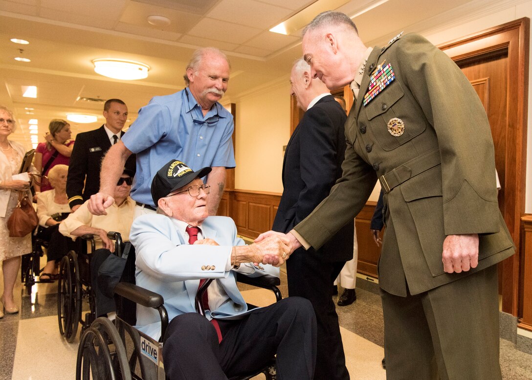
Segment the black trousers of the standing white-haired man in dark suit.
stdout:
<svg viewBox="0 0 532 380">
<path fill-rule="evenodd" d="M 315 380 L 348 379 L 332 285 L 345 261 L 324 262 L 313 249 L 299 249 L 286 261 L 288 294 L 312 303 L 318 324 Z"/>
</svg>

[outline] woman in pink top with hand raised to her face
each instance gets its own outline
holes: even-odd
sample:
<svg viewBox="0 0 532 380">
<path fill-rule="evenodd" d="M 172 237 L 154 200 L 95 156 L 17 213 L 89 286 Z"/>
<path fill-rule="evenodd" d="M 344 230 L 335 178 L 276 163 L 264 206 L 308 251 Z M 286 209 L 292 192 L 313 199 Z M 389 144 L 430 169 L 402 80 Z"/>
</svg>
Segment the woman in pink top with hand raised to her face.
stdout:
<svg viewBox="0 0 532 380">
<path fill-rule="evenodd" d="M 74 141 L 70 139 L 72 133 L 70 131 L 70 124 L 67 121 L 53 119 L 48 129 L 50 132 L 44 136 L 46 143 L 39 143 L 37 145 L 34 159 L 35 169 L 43 176 L 48 175 L 50 169 L 57 164 L 68 166 L 74 145 Z M 50 161 L 49 164 L 48 161 Z M 43 169 L 46 169 L 45 172 L 43 172 Z M 48 183 L 42 186 L 35 184 L 36 192 L 46 191 L 51 188 L 52 186 Z"/>
</svg>

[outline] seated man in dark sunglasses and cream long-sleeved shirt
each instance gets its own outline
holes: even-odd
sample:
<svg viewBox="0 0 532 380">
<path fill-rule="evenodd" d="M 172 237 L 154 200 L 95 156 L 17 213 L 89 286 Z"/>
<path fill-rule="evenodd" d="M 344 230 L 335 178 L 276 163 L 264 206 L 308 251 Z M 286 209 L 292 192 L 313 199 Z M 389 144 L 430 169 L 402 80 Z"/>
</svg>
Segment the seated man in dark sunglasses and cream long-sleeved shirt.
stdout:
<svg viewBox="0 0 532 380">
<path fill-rule="evenodd" d="M 114 251 L 114 242 L 107 237 L 107 232 L 119 232 L 122 241 L 129 241 L 129 230 L 135 213 L 135 201 L 129 196 L 134 172 L 123 169 L 113 191 L 113 204 L 107 209 L 107 215 L 95 216 L 87 208 L 88 200 L 75 212 L 63 220 L 59 232 L 75 239 L 85 234 L 95 236 L 96 249 L 105 248 Z"/>
</svg>

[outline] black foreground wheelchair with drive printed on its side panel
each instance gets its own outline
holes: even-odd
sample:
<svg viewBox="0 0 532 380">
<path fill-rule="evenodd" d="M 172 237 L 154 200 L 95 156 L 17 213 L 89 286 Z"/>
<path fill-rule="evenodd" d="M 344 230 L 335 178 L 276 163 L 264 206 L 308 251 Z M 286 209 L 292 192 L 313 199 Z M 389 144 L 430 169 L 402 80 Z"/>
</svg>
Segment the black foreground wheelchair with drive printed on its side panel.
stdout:
<svg viewBox="0 0 532 380">
<path fill-rule="evenodd" d="M 237 274 L 240 283 L 271 290 L 276 302 L 282 299 L 278 289 L 280 279 L 273 276 L 250 278 Z M 212 279 L 205 281 L 196 294 L 196 311 L 204 315 L 201 302 L 203 293 Z M 127 299 L 135 304 L 159 311 L 161 317 L 161 338 L 159 341 L 135 329 L 123 318 L 117 306 L 114 324 L 107 318 L 97 318 L 82 334 L 76 363 L 76 380 L 122 379 L 122 380 L 163 380 L 165 379 L 162 360 L 162 339 L 168 326 L 168 314 L 160 294 L 151 292 L 126 282 L 114 288 L 115 300 Z M 250 308 L 254 308 L 250 305 Z M 127 315 L 127 314 L 126 314 Z M 199 365 L 199 364 L 198 364 Z M 247 380 L 263 373 L 267 380 L 275 380 L 275 358 L 268 365 L 252 374 L 231 377 L 230 380 Z"/>
</svg>

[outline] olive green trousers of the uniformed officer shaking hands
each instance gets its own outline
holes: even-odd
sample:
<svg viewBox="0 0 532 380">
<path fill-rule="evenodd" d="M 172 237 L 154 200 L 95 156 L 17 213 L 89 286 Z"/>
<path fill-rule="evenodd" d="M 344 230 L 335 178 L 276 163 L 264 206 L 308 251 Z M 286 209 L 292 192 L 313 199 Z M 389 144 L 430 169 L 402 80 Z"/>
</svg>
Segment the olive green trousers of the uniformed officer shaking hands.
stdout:
<svg viewBox="0 0 532 380">
<path fill-rule="evenodd" d="M 496 265 L 381 299 L 387 380 L 501 380 Z"/>
</svg>

